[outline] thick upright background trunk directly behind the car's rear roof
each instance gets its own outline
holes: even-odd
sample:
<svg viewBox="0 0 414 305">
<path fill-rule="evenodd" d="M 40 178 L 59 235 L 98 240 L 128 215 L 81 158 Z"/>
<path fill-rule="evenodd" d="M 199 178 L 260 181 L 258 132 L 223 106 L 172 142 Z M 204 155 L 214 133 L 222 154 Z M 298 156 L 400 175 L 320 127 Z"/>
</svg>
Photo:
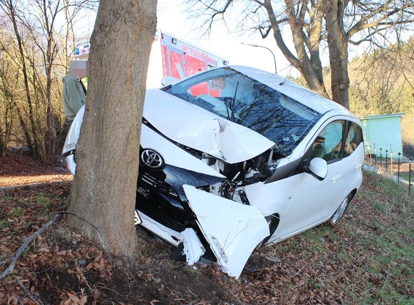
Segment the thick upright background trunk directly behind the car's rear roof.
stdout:
<svg viewBox="0 0 414 305">
<path fill-rule="evenodd" d="M 349 109 L 348 39 L 343 24 L 342 2 L 325 0 L 324 11 L 331 64 L 332 99 Z"/>
</svg>

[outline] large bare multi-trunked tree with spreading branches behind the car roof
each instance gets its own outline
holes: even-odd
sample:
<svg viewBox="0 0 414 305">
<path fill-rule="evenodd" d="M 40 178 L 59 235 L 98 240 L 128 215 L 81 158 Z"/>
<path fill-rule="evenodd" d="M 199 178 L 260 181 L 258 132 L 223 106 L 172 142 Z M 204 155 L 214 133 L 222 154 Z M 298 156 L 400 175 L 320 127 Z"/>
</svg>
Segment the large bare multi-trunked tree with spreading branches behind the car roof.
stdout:
<svg viewBox="0 0 414 305">
<path fill-rule="evenodd" d="M 412 0 L 284 0 L 283 4 L 271 0 L 187 2 L 192 7 L 192 15 L 202 21 L 207 31 L 220 20 L 227 25 L 226 17 L 229 17 L 239 21 L 239 30 L 258 31 L 262 38 L 272 33 L 285 58 L 301 73 L 309 88 L 325 96 L 320 48 L 327 46 L 332 99 L 347 108 L 348 45 L 369 42 L 383 46 L 384 39 L 398 39 L 403 26 L 410 26 L 414 21 Z M 296 54 L 286 45 L 287 35 L 282 35 L 285 25 L 289 26 Z"/>
</svg>

